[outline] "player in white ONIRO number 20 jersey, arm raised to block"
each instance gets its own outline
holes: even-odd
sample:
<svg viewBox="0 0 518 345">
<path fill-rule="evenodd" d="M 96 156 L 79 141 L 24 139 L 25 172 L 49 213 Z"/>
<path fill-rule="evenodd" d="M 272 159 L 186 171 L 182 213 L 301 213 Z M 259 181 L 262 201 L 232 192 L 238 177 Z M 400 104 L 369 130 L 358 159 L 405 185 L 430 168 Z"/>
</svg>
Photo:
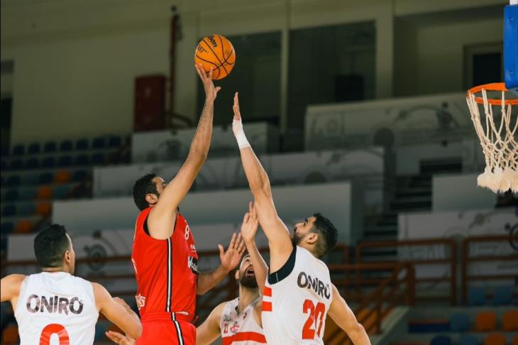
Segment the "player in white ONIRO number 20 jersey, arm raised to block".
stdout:
<svg viewBox="0 0 518 345">
<path fill-rule="evenodd" d="M 326 264 L 319 260 L 335 246 L 338 231 L 329 219 L 317 213 L 296 224 L 290 236 L 273 204 L 268 175 L 243 131 L 237 92 L 233 112 L 233 133 L 259 223 L 270 247 L 270 273 L 265 283 L 262 314 L 268 344 L 324 344 L 328 313 L 353 344 L 370 344 L 365 329 L 331 284 Z"/>
</svg>

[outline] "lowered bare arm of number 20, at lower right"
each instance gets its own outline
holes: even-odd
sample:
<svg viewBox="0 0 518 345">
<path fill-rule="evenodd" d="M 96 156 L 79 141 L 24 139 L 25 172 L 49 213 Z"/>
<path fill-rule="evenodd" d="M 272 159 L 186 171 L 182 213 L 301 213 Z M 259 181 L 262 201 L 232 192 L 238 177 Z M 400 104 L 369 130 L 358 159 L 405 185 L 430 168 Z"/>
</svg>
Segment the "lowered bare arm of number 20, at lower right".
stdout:
<svg viewBox="0 0 518 345">
<path fill-rule="evenodd" d="M 353 311 L 343 300 L 336 286 L 333 285 L 333 302 L 329 307 L 329 316 L 338 327 L 351 338 L 354 345 L 370 345 L 369 336 L 363 326 L 358 323 Z"/>
</svg>

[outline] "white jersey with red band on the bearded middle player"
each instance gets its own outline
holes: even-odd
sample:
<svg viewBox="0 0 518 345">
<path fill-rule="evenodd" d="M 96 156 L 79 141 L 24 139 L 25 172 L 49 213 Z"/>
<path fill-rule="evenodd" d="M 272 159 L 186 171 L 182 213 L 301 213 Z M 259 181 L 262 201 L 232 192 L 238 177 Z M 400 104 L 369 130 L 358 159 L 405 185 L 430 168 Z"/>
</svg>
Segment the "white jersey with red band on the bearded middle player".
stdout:
<svg viewBox="0 0 518 345">
<path fill-rule="evenodd" d="M 221 340 L 223 345 L 256 345 L 266 344 L 263 329 L 255 321 L 254 308 L 260 301 L 260 297 L 238 313 L 239 299 L 227 302 L 219 327 L 221 329 Z"/>
</svg>

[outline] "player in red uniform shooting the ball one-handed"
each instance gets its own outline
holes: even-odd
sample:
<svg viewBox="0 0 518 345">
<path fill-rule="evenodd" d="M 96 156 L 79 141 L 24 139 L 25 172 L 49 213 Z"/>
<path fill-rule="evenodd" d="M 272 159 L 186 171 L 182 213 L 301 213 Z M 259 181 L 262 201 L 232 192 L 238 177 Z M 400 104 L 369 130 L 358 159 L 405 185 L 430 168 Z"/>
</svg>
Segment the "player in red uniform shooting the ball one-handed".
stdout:
<svg viewBox="0 0 518 345">
<path fill-rule="evenodd" d="M 148 174 L 133 186 L 133 199 L 140 214 L 131 261 L 143 325 L 137 344 L 194 344 L 196 295 L 203 295 L 223 280 L 238 265 L 244 251 L 241 234 L 237 238 L 234 234 L 226 252 L 219 245 L 221 265 L 211 272 L 199 273 L 194 239 L 178 209 L 209 152 L 214 99 L 220 89 L 214 87 L 212 70 L 208 75 L 201 65 L 196 70 L 204 84 L 205 105 L 187 159 L 169 184 Z"/>
</svg>

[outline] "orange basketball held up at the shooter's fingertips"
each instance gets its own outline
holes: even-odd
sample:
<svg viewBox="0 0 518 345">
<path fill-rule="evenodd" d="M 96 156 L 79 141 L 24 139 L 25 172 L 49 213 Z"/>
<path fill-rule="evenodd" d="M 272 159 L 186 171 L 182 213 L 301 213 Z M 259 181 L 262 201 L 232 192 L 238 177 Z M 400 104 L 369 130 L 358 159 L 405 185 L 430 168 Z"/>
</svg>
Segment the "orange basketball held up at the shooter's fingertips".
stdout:
<svg viewBox="0 0 518 345">
<path fill-rule="evenodd" d="M 199 41 L 194 51 L 194 63 L 203 65 L 205 72 L 212 67 L 212 79 L 220 80 L 230 74 L 236 63 L 236 52 L 222 35 L 210 35 Z"/>
</svg>

